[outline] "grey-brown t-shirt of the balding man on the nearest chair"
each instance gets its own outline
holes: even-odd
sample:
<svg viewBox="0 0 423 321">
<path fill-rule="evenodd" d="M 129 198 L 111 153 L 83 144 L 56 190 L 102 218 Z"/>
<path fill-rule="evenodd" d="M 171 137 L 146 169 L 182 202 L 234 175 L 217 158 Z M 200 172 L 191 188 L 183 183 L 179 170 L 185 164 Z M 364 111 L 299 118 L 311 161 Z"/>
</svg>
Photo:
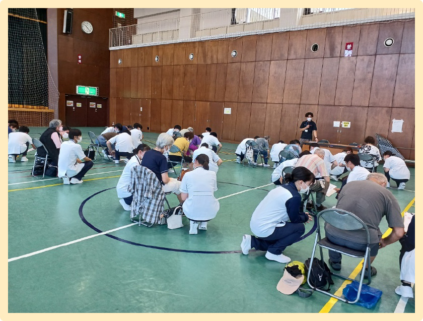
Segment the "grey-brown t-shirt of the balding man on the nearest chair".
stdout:
<svg viewBox="0 0 423 321">
<path fill-rule="evenodd" d="M 366 223 L 370 243 L 379 243 L 382 236 L 379 223 L 384 216 L 389 227 L 404 227 L 396 198 L 389 190 L 371 180 L 357 180 L 346 184 L 339 194 L 336 208 L 351 212 Z M 329 224 L 326 224 L 325 230 L 349 241 L 367 243 L 365 230 L 344 231 Z"/>
</svg>

